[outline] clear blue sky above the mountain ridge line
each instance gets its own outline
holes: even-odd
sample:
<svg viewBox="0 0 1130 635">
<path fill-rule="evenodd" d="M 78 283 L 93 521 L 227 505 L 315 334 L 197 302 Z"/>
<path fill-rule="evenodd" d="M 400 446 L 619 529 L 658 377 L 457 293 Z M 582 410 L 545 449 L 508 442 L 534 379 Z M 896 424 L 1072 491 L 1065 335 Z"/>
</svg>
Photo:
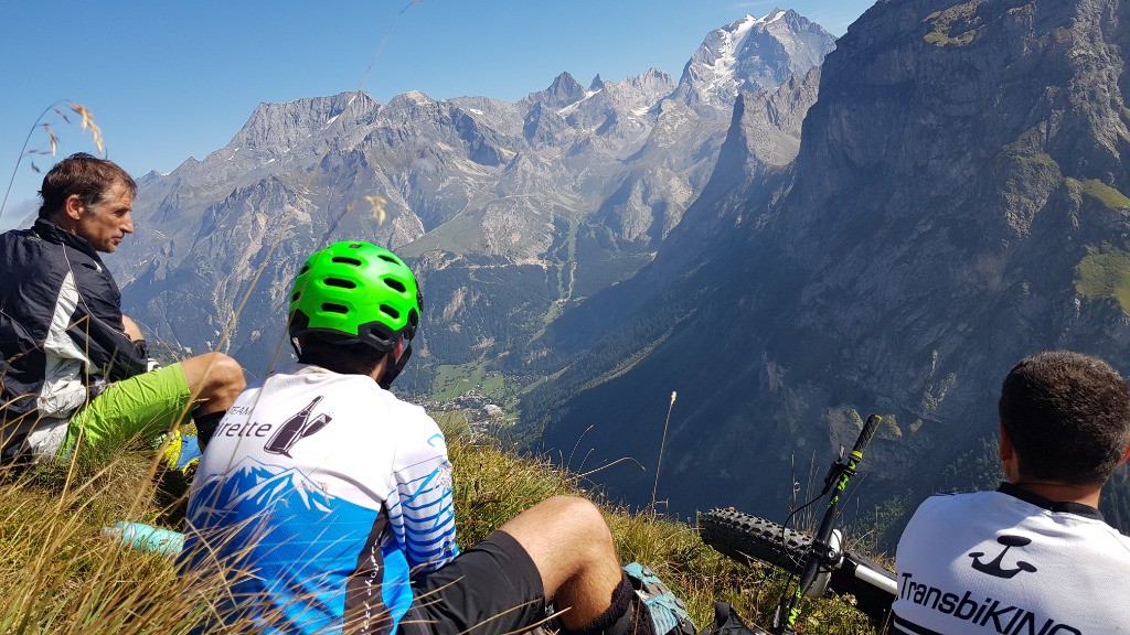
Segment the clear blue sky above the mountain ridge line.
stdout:
<svg viewBox="0 0 1130 635">
<path fill-rule="evenodd" d="M 407 90 L 515 101 L 562 71 L 584 85 L 651 67 L 678 78 L 710 31 L 746 14 L 796 9 L 838 36 L 872 3 L 0 0 L 0 197 L 15 176 L 0 227 L 21 211 L 14 205 L 35 198 L 42 175 L 32 162 L 45 169 L 54 160 L 24 157 L 16 167 L 36 118 L 56 101 L 89 108 L 108 157 L 140 175 L 223 147 L 260 102 L 356 90 L 363 80 L 385 102 Z M 77 125 L 53 112 L 43 121 L 59 134 L 59 158 L 94 151 Z M 42 129 L 29 147 L 47 148 Z"/>
</svg>

